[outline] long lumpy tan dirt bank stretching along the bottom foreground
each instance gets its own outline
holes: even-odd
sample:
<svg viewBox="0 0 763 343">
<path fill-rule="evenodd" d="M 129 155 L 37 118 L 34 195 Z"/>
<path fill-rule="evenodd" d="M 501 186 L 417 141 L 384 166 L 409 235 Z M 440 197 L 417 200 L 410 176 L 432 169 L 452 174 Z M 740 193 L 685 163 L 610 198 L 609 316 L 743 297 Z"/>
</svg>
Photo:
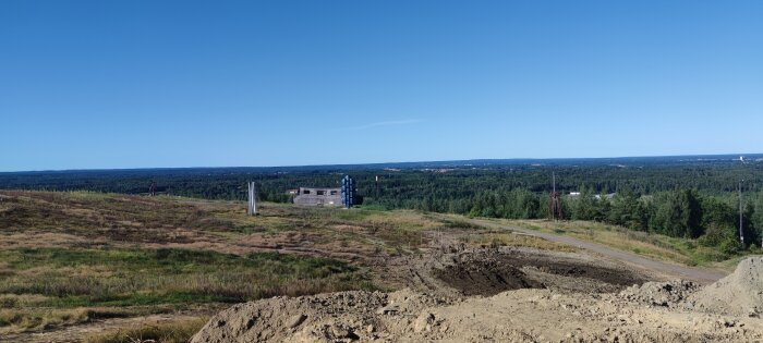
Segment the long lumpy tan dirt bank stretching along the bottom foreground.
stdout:
<svg viewBox="0 0 763 343">
<path fill-rule="evenodd" d="M 276 297 L 227 309 L 192 343 L 756 342 L 763 322 L 645 307 L 616 294 L 524 289 L 443 299 L 409 290 Z"/>
</svg>

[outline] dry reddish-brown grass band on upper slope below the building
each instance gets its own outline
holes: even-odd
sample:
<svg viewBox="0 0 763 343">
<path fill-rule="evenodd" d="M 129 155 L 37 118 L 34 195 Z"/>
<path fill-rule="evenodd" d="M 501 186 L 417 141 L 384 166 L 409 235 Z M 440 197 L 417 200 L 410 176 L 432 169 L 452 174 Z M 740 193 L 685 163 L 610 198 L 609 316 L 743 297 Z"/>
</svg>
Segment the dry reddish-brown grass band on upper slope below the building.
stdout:
<svg viewBox="0 0 763 343">
<path fill-rule="evenodd" d="M 0 191 L 0 246 L 172 246 L 249 254 L 278 245 L 307 244 L 317 255 L 364 256 L 411 250 L 421 232 L 440 222 L 415 211 L 343 210 L 262 204 L 246 216 L 244 204 L 87 192 Z M 308 234 L 294 242 L 281 235 Z M 412 244 L 417 242 L 417 244 Z"/>
</svg>

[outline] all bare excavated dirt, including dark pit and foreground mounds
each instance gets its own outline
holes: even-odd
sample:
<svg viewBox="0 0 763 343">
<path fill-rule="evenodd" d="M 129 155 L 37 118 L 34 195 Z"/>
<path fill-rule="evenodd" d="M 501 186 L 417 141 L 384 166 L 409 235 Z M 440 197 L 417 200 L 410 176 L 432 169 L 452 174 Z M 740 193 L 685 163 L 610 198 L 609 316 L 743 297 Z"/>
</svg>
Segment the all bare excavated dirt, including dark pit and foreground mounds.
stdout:
<svg viewBox="0 0 763 343">
<path fill-rule="evenodd" d="M 761 257 L 705 287 L 526 248 L 448 246 L 386 266 L 409 287 L 235 305 L 192 342 L 763 342 Z"/>
</svg>

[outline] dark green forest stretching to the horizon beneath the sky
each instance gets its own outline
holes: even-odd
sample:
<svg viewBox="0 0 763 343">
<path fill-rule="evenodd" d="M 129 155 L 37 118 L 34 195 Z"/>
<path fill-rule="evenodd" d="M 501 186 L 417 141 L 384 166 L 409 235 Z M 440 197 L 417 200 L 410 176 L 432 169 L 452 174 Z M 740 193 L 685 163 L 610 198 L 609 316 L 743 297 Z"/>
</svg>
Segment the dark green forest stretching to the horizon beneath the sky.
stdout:
<svg viewBox="0 0 763 343">
<path fill-rule="evenodd" d="M 763 156 L 560 160 L 477 160 L 288 168 L 194 168 L 0 173 L 0 188 L 94 191 L 244 200 L 255 181 L 261 200 L 288 203 L 287 189 L 339 186 L 355 179 L 363 206 L 475 217 L 545 218 L 552 173 L 567 219 L 698 238 L 727 254 L 739 244 L 739 195 L 746 243 L 763 238 Z M 375 177 L 378 176 L 378 183 Z M 570 192 L 580 192 L 571 197 Z M 607 194 L 613 194 L 608 198 Z"/>
</svg>

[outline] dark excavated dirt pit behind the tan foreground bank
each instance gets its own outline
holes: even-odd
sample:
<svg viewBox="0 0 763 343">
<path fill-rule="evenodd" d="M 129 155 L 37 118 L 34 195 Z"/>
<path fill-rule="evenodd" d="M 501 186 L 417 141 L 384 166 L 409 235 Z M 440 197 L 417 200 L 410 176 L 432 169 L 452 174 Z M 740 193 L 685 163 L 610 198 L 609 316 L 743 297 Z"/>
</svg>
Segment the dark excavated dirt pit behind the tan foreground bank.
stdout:
<svg viewBox="0 0 763 343">
<path fill-rule="evenodd" d="M 520 289 L 610 293 L 649 280 L 623 266 L 526 250 L 463 253 L 433 274 L 464 295 L 484 296 Z"/>
</svg>

